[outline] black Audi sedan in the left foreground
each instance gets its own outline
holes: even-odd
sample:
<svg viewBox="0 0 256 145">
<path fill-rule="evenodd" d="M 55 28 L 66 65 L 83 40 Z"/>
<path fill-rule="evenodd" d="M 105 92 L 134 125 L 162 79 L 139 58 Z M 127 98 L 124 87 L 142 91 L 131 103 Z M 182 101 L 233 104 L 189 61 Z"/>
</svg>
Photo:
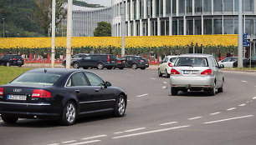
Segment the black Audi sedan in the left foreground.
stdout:
<svg viewBox="0 0 256 145">
<path fill-rule="evenodd" d="M 78 69 L 33 69 L 0 86 L 0 113 L 6 123 L 39 118 L 72 125 L 78 117 L 99 112 L 123 117 L 126 102 L 123 89 Z"/>
</svg>

